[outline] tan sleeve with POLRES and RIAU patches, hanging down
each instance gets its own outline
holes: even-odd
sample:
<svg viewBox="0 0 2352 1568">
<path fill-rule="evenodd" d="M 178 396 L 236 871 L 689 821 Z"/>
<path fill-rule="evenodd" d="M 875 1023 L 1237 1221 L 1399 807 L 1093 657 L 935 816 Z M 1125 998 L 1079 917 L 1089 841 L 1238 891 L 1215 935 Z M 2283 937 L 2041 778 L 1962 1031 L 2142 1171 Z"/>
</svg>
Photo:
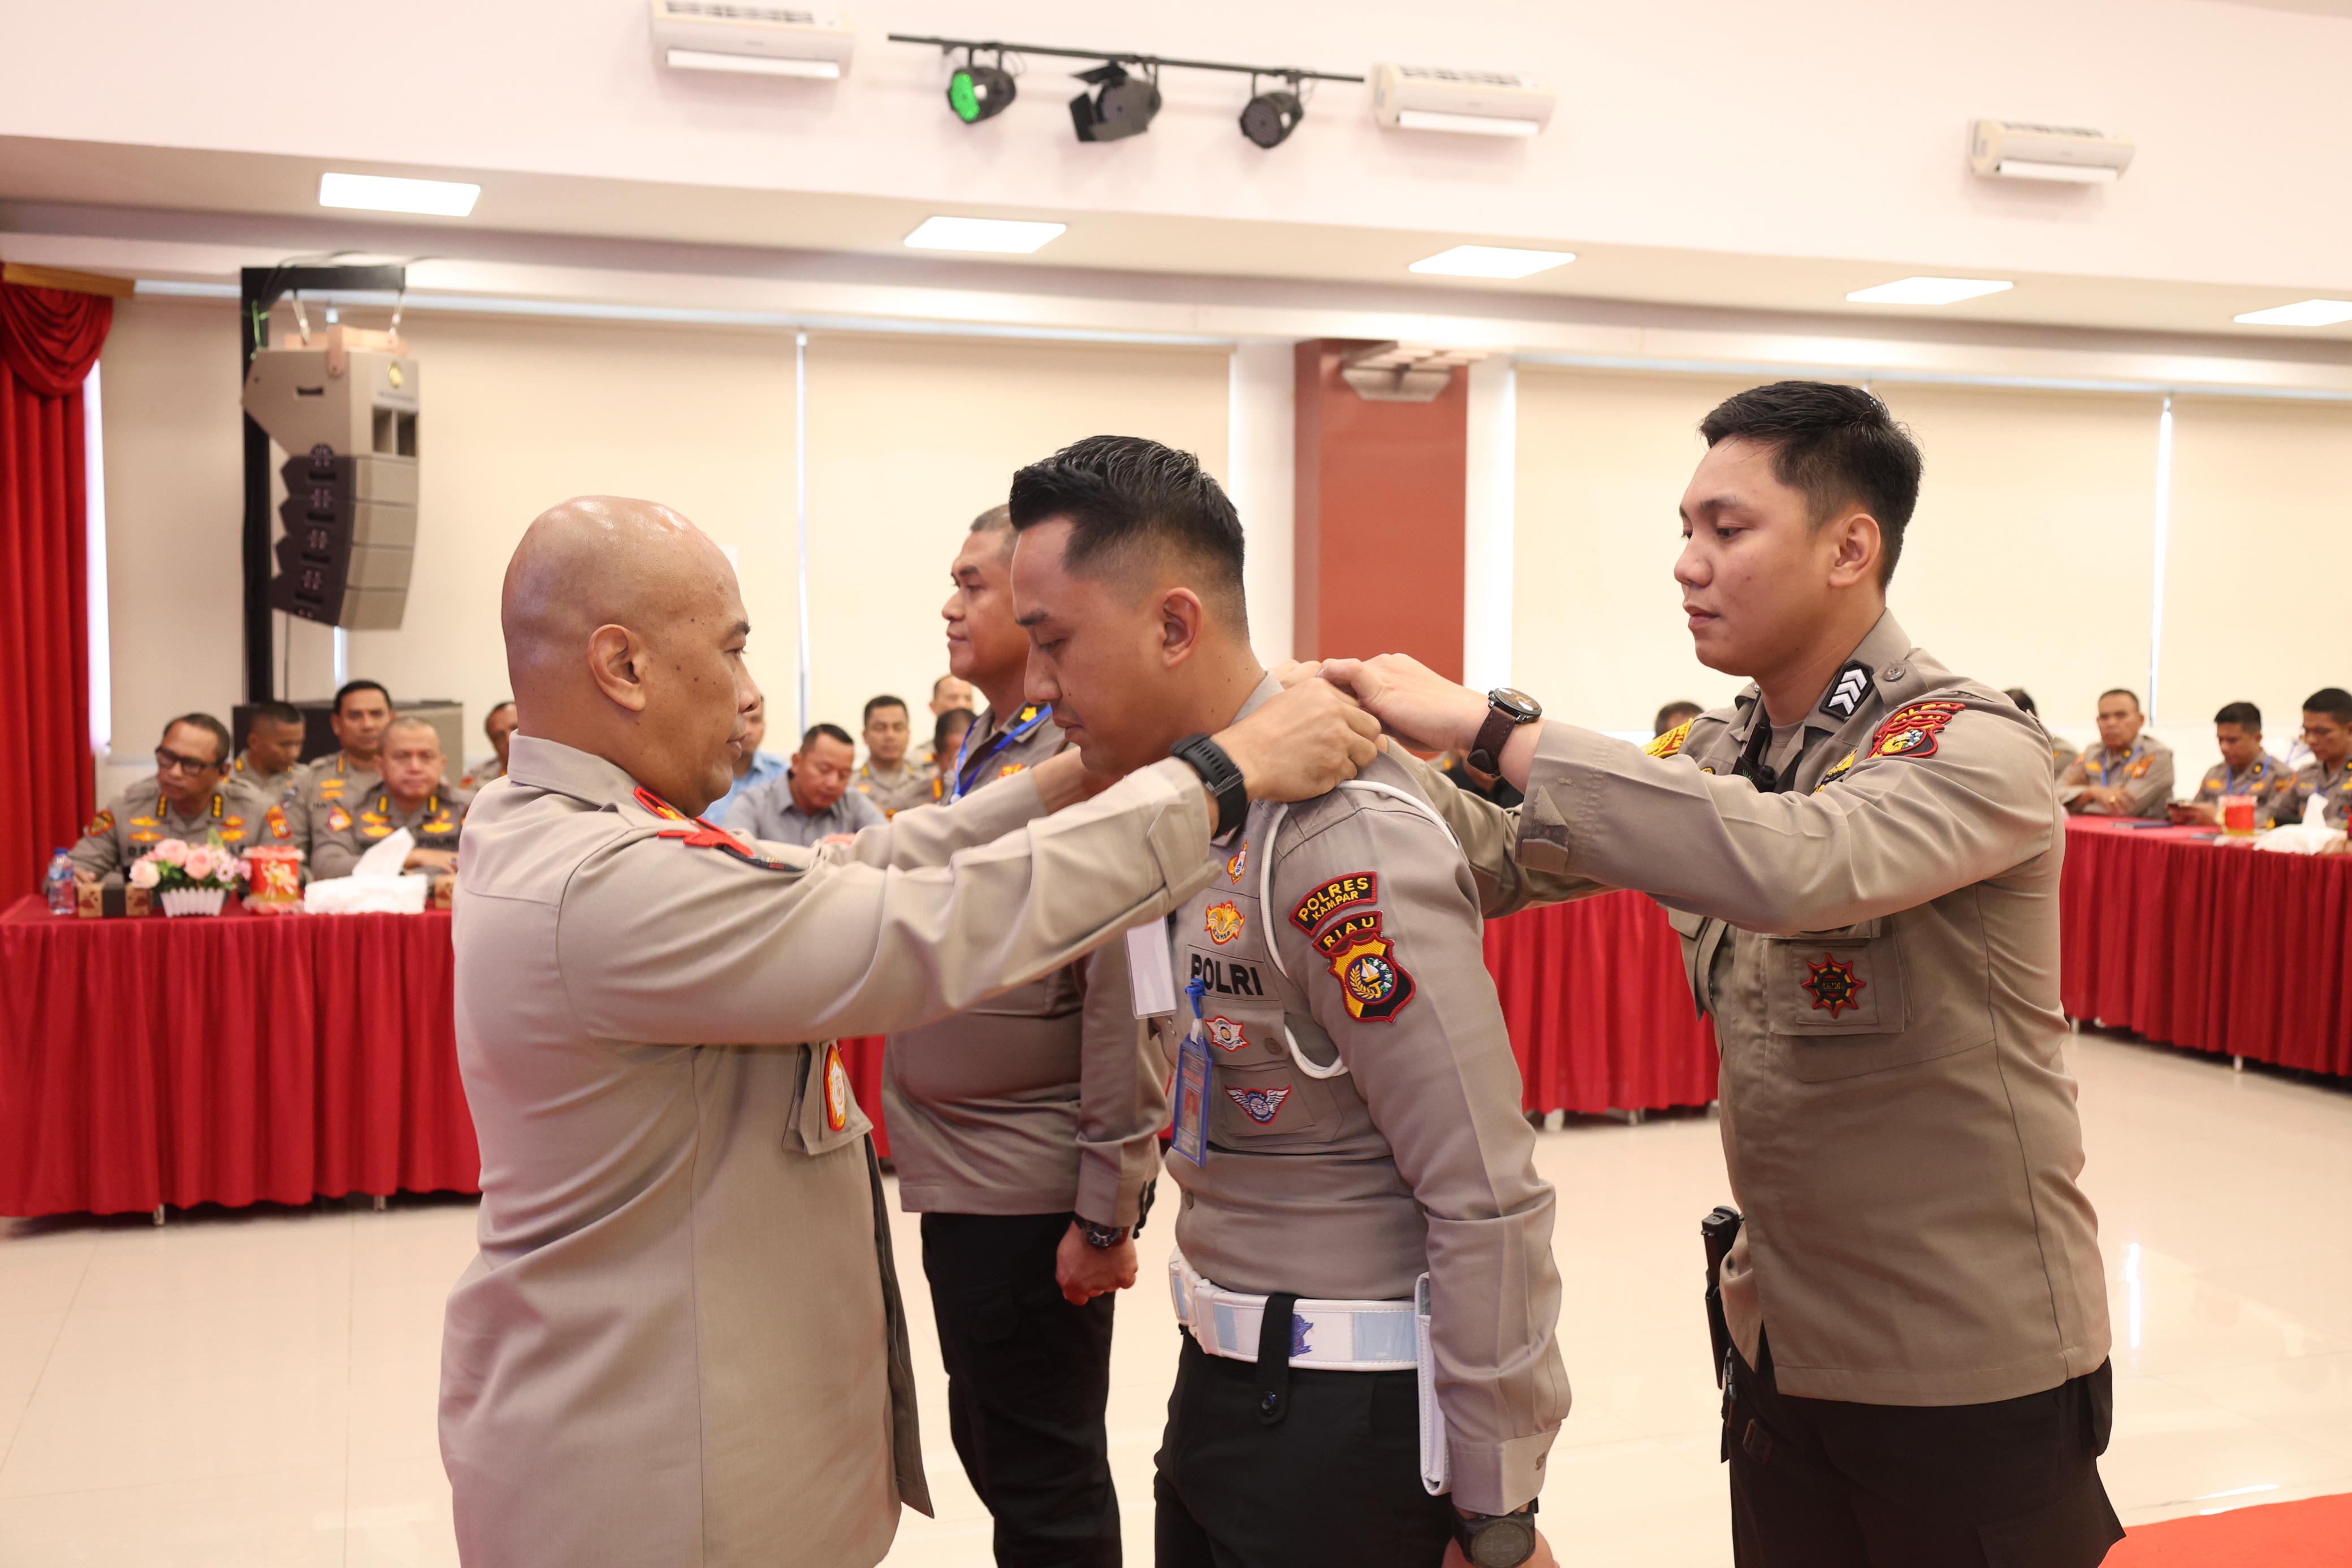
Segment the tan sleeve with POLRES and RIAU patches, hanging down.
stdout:
<svg viewBox="0 0 2352 1568">
<path fill-rule="evenodd" d="M 1475 882 L 1437 825 L 1404 804 L 1364 804 L 1275 849 L 1272 940 L 1428 1222 L 1454 1502 L 1505 1514 L 1543 1490 L 1569 1378 L 1555 1340 L 1557 1199 L 1536 1175 L 1536 1133 L 1519 1112 L 1519 1065 L 1486 976 Z M 1331 947 L 1322 952 L 1291 910 L 1359 872 L 1376 872 L 1374 896 L 1317 922 Z"/>
</svg>

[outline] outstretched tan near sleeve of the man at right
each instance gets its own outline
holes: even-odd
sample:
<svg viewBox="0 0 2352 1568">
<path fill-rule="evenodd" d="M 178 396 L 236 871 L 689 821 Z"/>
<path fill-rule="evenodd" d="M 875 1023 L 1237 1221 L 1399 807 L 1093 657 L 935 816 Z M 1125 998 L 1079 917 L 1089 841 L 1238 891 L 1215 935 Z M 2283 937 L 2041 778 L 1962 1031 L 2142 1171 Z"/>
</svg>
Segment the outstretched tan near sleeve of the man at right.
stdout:
<svg viewBox="0 0 2352 1568">
<path fill-rule="evenodd" d="M 1519 858 L 1639 889 L 1750 931 L 1830 931 L 1997 877 L 2051 844 L 2049 764 L 2032 726 L 1971 693 L 1933 750 L 1877 757 L 1811 795 L 1646 757 L 1545 724 Z"/>
</svg>

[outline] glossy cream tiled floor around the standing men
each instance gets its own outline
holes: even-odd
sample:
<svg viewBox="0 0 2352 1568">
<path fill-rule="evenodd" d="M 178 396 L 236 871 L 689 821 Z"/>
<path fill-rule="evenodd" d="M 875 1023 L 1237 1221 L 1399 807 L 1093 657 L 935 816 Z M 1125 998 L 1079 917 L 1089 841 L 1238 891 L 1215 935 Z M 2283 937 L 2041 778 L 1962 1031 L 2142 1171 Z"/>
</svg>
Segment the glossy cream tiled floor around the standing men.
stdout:
<svg viewBox="0 0 2352 1568">
<path fill-rule="evenodd" d="M 2352 1490 L 2352 1091 L 2096 1037 L 2074 1067 L 2124 1521 Z M 1693 1291 L 1698 1215 L 1724 1197 L 1715 1124 L 1555 1128 L 1541 1164 L 1576 1382 L 1545 1528 L 1564 1561 L 1726 1563 Z M 901 1248 L 922 1302 L 908 1222 Z M 433 1389 L 470 1251 L 459 1201 L 0 1222 L 0 1568 L 454 1563 Z M 1174 1349 L 1167 1293 L 1122 1298 L 1110 1429 L 1138 1563 Z M 915 1356 L 941 1516 L 910 1514 L 889 1561 L 985 1563 L 920 1307 Z"/>
</svg>

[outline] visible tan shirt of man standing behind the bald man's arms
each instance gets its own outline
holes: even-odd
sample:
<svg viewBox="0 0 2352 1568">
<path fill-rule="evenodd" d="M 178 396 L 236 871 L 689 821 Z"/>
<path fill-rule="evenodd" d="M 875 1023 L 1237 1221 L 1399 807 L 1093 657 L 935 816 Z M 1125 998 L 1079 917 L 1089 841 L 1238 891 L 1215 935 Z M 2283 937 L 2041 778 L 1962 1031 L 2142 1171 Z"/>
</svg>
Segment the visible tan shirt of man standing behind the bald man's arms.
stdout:
<svg viewBox="0 0 2352 1568">
<path fill-rule="evenodd" d="M 981 715 L 976 785 L 1016 778 L 1063 748 L 1025 708 L 997 743 Z M 1160 1173 L 1167 1060 L 1136 1023 L 1127 945 L 1016 985 L 971 1011 L 894 1034 L 882 1110 L 908 1213 L 1061 1213 L 1134 1225 Z"/>
</svg>

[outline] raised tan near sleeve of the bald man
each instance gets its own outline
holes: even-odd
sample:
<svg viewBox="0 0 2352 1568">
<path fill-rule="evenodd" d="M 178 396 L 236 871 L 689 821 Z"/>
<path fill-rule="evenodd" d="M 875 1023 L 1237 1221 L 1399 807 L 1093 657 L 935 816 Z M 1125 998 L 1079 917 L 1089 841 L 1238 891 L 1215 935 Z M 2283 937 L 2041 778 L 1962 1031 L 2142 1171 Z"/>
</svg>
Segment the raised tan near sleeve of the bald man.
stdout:
<svg viewBox="0 0 2352 1568">
<path fill-rule="evenodd" d="M 891 1034 L 1167 914 L 1214 867 L 1209 797 L 1181 762 L 953 865 L 741 858 L 628 827 L 564 886 L 555 959 L 590 1037 L 757 1046 Z"/>
</svg>

